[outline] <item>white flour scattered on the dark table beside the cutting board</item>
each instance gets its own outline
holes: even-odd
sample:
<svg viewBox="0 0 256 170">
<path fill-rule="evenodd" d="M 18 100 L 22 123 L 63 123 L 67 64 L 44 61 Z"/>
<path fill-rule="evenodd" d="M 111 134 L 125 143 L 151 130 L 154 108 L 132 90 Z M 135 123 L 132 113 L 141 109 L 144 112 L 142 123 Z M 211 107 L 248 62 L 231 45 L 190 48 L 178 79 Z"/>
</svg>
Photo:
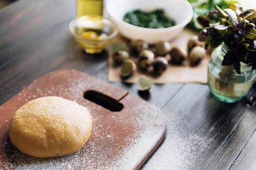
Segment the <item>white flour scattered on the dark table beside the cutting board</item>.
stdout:
<svg viewBox="0 0 256 170">
<path fill-rule="evenodd" d="M 195 162 L 201 159 L 209 139 L 187 132 L 185 119 L 170 113 L 166 115 L 171 123 L 167 125 L 165 140 L 142 170 L 166 170 L 167 167 L 169 170 L 197 170 Z"/>
</svg>

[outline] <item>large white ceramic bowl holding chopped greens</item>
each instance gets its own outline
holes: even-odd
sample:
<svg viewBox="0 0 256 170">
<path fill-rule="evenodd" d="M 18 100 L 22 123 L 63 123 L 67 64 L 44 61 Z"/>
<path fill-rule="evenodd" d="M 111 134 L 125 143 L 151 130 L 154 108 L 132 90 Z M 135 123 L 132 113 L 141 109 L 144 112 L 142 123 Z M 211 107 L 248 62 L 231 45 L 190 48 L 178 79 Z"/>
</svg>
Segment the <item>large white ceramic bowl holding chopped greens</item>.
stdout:
<svg viewBox="0 0 256 170">
<path fill-rule="evenodd" d="M 152 29 L 138 27 L 123 21 L 125 14 L 129 11 L 135 9 L 152 11 L 157 8 L 163 9 L 168 17 L 175 20 L 176 25 L 169 28 Z M 123 36 L 129 39 L 143 39 L 150 44 L 173 39 L 193 16 L 192 6 L 187 0 L 107 0 L 107 13 Z"/>
</svg>

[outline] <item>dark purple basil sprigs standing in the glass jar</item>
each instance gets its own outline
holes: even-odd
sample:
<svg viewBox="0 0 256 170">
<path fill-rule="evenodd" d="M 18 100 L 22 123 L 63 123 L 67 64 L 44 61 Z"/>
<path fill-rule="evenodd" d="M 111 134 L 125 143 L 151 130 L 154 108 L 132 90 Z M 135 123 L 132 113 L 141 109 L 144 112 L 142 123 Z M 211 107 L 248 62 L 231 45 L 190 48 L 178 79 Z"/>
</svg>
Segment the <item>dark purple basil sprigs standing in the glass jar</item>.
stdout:
<svg viewBox="0 0 256 170">
<path fill-rule="evenodd" d="M 220 17 L 214 24 L 209 19 L 213 15 Z M 204 27 L 198 39 L 205 41 L 206 49 L 209 46 L 214 49 L 222 43 L 228 47 L 223 66 L 234 65 L 238 74 L 241 73 L 240 62 L 256 69 L 256 10 L 246 10 L 238 4 L 224 10 L 216 6 L 206 17 L 199 16 L 197 22 Z"/>
</svg>

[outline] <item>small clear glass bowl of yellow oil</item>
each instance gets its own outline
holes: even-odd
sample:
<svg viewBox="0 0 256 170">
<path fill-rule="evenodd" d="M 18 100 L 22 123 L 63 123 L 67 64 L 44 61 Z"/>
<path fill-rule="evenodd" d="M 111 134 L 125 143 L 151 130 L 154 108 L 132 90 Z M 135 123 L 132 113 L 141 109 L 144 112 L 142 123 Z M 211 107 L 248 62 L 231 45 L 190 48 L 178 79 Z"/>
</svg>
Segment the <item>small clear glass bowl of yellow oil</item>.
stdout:
<svg viewBox="0 0 256 170">
<path fill-rule="evenodd" d="M 72 20 L 69 31 L 87 53 L 102 52 L 117 34 L 114 23 L 101 16 L 82 16 Z"/>
</svg>

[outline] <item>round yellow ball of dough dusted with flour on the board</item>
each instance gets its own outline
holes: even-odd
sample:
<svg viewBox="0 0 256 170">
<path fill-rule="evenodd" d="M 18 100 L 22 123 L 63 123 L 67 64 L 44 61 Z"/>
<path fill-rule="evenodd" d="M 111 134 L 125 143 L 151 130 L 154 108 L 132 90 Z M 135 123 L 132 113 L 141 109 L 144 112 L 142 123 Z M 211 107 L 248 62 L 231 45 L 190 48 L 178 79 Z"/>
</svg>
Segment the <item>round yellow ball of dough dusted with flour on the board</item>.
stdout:
<svg viewBox="0 0 256 170">
<path fill-rule="evenodd" d="M 86 107 L 60 97 L 25 103 L 10 122 L 11 142 L 36 157 L 59 157 L 81 149 L 89 139 L 92 119 Z"/>
</svg>

